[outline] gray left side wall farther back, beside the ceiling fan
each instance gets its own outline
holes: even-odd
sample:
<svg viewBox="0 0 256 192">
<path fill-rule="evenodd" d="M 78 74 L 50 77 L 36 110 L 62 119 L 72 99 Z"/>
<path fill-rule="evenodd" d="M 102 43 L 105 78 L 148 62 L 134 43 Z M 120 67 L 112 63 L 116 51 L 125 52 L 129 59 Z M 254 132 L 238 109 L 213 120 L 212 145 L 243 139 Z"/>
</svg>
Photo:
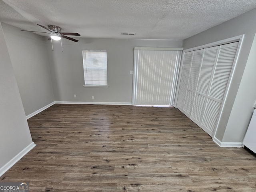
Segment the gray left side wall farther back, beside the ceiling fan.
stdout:
<svg viewBox="0 0 256 192">
<path fill-rule="evenodd" d="M 45 38 L 2 23 L 26 116 L 54 102 Z"/>
</svg>

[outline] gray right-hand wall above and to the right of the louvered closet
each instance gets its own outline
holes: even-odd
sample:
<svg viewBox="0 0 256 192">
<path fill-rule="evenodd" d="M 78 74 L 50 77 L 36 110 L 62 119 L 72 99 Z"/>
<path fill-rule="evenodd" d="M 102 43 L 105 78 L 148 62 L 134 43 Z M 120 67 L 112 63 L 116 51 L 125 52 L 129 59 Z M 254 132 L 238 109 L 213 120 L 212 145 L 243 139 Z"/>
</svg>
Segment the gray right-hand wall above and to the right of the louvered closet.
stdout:
<svg viewBox="0 0 256 192">
<path fill-rule="evenodd" d="M 230 91 L 216 132 L 216 138 L 222 142 L 242 142 L 256 100 L 256 89 L 252 84 L 252 82 L 256 82 L 256 75 L 253 74 L 255 67 L 252 64 L 255 65 L 256 60 L 250 57 L 250 62 L 248 61 L 256 32 L 255 18 L 256 9 L 183 41 L 184 49 L 188 49 L 245 34 Z"/>
</svg>

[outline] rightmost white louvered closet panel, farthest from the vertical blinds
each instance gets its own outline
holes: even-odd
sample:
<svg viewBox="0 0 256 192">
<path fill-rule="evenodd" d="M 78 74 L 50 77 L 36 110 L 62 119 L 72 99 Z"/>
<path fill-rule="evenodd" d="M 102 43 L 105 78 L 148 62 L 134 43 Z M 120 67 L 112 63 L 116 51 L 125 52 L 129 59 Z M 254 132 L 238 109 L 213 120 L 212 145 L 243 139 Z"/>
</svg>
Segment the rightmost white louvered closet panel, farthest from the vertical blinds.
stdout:
<svg viewBox="0 0 256 192">
<path fill-rule="evenodd" d="M 201 128 L 212 136 L 216 127 L 226 88 L 230 80 L 238 42 L 220 46 L 218 60 L 214 70 L 210 92 L 206 101 Z"/>
</svg>

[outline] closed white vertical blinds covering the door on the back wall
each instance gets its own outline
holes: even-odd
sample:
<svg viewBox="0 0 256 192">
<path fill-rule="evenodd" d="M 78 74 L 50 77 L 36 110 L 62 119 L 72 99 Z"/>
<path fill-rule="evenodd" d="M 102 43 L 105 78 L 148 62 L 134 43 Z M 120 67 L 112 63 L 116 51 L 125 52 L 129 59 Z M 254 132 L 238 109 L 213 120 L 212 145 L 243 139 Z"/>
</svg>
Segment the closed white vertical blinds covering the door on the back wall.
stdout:
<svg viewBox="0 0 256 192">
<path fill-rule="evenodd" d="M 179 50 L 134 50 L 135 105 L 173 105 Z"/>
</svg>

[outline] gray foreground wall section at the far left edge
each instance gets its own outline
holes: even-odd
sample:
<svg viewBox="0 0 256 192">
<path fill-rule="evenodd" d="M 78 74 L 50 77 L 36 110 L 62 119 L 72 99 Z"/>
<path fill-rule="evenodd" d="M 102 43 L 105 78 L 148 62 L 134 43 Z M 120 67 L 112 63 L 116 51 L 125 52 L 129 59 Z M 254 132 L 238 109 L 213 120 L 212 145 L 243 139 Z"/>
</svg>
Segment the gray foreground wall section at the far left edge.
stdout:
<svg viewBox="0 0 256 192">
<path fill-rule="evenodd" d="M 0 168 L 32 143 L 0 23 Z"/>
</svg>

